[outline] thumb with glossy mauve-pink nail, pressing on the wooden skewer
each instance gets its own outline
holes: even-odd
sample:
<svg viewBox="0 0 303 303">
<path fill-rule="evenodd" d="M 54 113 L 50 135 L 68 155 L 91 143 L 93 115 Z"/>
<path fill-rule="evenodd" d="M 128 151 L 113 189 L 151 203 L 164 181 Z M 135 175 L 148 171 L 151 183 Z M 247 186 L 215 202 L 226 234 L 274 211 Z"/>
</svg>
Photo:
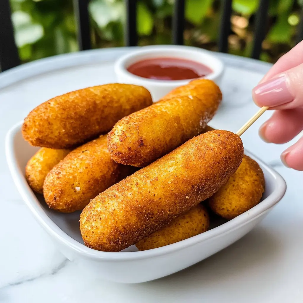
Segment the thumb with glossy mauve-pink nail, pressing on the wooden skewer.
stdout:
<svg viewBox="0 0 303 303">
<path fill-rule="evenodd" d="M 258 106 L 290 109 L 303 106 L 303 64 L 258 84 L 252 90 Z"/>
</svg>

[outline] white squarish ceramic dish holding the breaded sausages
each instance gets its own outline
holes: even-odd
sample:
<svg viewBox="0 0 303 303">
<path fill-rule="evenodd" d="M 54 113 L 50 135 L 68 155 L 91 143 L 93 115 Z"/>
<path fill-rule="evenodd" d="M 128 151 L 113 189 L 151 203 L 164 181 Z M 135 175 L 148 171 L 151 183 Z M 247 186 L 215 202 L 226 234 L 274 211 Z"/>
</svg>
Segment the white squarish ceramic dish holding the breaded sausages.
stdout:
<svg viewBox="0 0 303 303">
<path fill-rule="evenodd" d="M 133 245 L 122 252 L 103 252 L 86 247 L 79 230 L 80 212 L 58 213 L 49 209 L 42 197 L 36 195 L 25 180 L 25 165 L 38 148 L 22 138 L 21 125 L 7 134 L 5 149 L 8 166 L 19 193 L 40 225 L 48 232 L 58 249 L 71 261 L 95 271 L 101 278 L 137 283 L 170 275 L 187 268 L 231 245 L 258 224 L 283 197 L 283 178 L 248 151 L 245 154 L 261 166 L 266 190 L 262 201 L 237 218 L 226 222 L 218 219 L 212 229 L 189 239 L 148 251 L 136 251 Z M 239 252 L 240 254 L 241 252 Z"/>
</svg>

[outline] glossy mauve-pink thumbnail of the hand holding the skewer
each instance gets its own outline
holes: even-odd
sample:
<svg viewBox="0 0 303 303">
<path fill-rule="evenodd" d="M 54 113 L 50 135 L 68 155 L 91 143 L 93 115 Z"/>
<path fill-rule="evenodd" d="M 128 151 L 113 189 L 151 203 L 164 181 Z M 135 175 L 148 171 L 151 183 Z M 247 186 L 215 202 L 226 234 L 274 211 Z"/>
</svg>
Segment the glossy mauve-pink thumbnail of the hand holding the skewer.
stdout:
<svg viewBox="0 0 303 303">
<path fill-rule="evenodd" d="M 269 107 L 285 104 L 294 99 L 287 88 L 286 75 L 258 84 L 253 88 L 252 95 L 257 105 Z"/>
</svg>

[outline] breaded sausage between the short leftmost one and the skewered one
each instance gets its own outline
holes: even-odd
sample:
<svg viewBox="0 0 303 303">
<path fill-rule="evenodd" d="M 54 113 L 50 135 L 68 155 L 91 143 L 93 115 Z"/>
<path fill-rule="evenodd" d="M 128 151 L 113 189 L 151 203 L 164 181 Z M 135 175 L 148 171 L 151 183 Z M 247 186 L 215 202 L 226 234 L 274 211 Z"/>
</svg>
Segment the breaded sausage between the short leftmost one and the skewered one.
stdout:
<svg viewBox="0 0 303 303">
<path fill-rule="evenodd" d="M 62 212 L 82 210 L 92 198 L 133 170 L 111 159 L 106 135 L 102 135 L 70 152 L 48 173 L 43 185 L 45 202 Z"/>
</svg>

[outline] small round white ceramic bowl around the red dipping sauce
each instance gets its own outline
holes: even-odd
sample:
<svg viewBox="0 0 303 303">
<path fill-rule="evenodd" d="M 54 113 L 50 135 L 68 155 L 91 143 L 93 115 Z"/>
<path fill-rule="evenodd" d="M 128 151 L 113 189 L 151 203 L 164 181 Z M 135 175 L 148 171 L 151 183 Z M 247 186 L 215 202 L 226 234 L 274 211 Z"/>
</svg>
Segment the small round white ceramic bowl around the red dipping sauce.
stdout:
<svg viewBox="0 0 303 303">
<path fill-rule="evenodd" d="M 213 80 L 218 85 L 220 84 L 224 65 L 215 53 L 201 48 L 180 45 L 144 46 L 140 50 L 122 56 L 115 62 L 115 73 L 118 82 L 142 85 L 151 92 L 153 100 L 158 101 L 172 89 L 191 81 L 190 79 L 175 81 L 153 80 L 133 75 L 127 71 L 127 68 L 135 62 L 161 57 L 188 59 L 207 65 L 213 72 L 205 78 Z"/>
</svg>

